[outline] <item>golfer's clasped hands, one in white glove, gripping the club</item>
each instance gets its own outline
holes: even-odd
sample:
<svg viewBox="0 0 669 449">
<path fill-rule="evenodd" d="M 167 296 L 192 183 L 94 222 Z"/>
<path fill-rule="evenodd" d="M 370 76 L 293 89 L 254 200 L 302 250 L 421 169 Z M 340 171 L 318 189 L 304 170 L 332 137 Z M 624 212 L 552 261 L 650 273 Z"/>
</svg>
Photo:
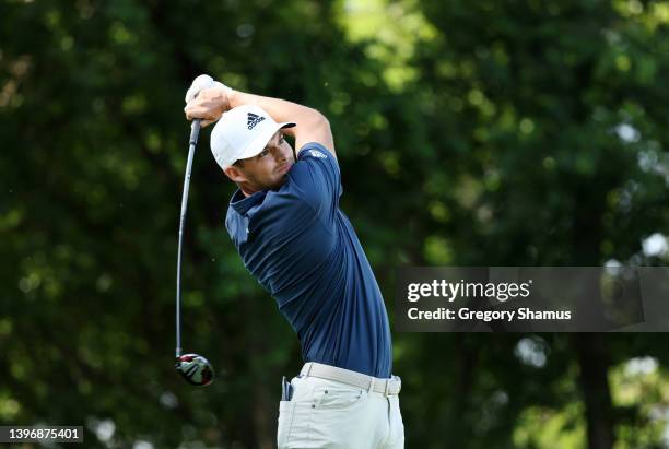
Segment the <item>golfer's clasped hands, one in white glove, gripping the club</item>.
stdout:
<svg viewBox="0 0 669 449">
<path fill-rule="evenodd" d="M 186 93 L 186 118 L 202 119 L 206 127 L 219 120 L 223 113 L 231 109 L 231 96 L 233 90 L 227 87 L 209 75 L 196 78 Z"/>
</svg>

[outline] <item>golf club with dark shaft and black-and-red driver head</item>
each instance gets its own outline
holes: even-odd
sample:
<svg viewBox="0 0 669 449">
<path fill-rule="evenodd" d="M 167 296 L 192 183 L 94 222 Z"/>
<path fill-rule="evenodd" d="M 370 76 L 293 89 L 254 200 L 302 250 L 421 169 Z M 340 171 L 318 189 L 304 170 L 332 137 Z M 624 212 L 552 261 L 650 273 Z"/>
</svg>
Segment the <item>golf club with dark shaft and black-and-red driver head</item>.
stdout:
<svg viewBox="0 0 669 449">
<path fill-rule="evenodd" d="M 200 133 L 200 120 L 195 119 L 190 126 L 190 140 L 188 147 L 188 162 L 186 163 L 186 176 L 184 178 L 184 193 L 181 197 L 181 217 L 179 220 L 179 246 L 177 252 L 177 297 L 176 297 L 176 369 L 187 382 L 203 387 L 213 381 L 213 368 L 209 361 L 199 354 L 181 355 L 181 243 L 184 237 L 184 224 L 186 222 L 186 208 L 188 204 L 188 189 L 190 187 L 190 170 L 192 157 Z"/>
</svg>

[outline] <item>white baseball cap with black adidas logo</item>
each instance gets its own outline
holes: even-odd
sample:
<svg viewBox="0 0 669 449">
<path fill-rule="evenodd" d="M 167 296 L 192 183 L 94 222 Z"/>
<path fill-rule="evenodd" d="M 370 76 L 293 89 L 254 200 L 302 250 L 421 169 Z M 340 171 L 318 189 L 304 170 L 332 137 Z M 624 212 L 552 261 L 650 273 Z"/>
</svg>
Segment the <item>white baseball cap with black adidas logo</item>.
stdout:
<svg viewBox="0 0 669 449">
<path fill-rule="evenodd" d="M 277 131 L 294 126 L 293 122 L 277 123 L 258 106 L 237 106 L 223 114 L 211 131 L 211 153 L 225 169 L 238 159 L 257 155 Z"/>
</svg>

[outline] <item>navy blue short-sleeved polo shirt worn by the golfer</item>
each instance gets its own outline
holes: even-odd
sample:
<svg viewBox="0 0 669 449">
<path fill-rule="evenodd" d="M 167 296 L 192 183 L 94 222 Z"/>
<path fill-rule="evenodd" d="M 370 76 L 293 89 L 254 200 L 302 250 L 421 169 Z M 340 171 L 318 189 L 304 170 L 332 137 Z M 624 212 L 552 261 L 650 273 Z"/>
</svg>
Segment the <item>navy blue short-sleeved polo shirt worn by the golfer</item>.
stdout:
<svg viewBox="0 0 669 449">
<path fill-rule="evenodd" d="M 297 333 L 305 362 L 389 378 L 388 315 L 341 193 L 334 156 L 307 143 L 278 190 L 235 192 L 225 227 Z"/>
</svg>

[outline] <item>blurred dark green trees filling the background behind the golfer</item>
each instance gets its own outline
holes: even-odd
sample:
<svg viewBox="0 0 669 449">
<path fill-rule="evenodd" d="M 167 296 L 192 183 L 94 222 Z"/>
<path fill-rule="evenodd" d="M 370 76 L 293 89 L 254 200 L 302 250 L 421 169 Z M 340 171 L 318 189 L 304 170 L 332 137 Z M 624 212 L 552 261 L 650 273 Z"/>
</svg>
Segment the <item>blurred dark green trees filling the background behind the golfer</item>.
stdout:
<svg viewBox="0 0 669 449">
<path fill-rule="evenodd" d="M 173 368 L 200 73 L 330 119 L 391 319 L 398 267 L 666 263 L 668 25 L 667 1 L 2 0 L 0 424 L 274 446 L 300 348 L 224 229 L 210 129 L 183 318 L 218 380 Z M 408 448 L 669 447 L 665 334 L 394 339 Z"/>
</svg>

